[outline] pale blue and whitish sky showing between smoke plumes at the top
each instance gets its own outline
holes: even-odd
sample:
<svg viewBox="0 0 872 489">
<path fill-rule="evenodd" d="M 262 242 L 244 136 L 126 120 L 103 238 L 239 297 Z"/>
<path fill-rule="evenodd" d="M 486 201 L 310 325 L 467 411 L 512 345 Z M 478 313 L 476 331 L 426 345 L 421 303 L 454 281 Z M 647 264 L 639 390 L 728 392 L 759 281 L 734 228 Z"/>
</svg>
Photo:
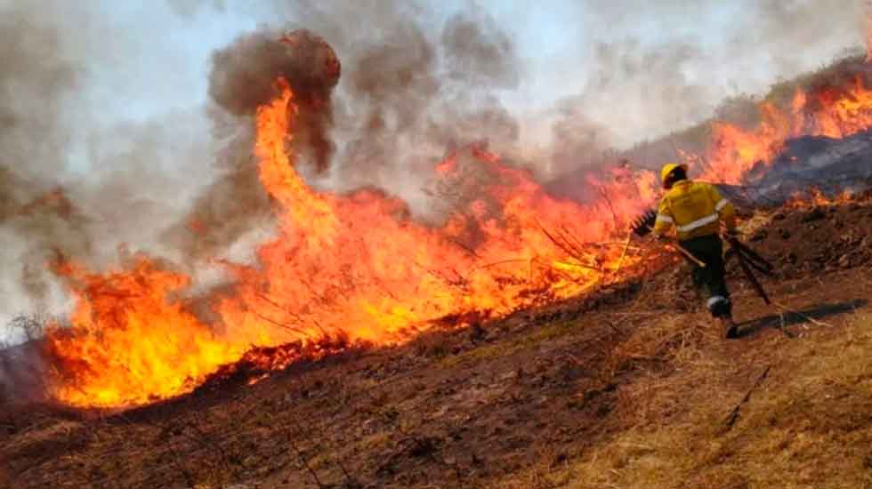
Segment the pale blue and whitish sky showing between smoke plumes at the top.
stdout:
<svg viewBox="0 0 872 489">
<path fill-rule="evenodd" d="M 101 113 L 83 130 L 202 107 L 212 52 L 260 26 L 293 22 L 293 4 L 241 0 L 56 3 L 59 21 L 65 16 L 86 19 L 83 28 L 75 31 L 77 38 L 65 37 L 63 42 L 99 53 L 88 62 L 78 96 L 93 108 L 101 108 Z M 491 15 L 513 37 L 522 63 L 521 84 L 498 93 L 510 108 L 537 114 L 557 100 L 585 94 L 590 99 L 586 112 L 610 125 L 618 146 L 693 124 L 709 116 L 724 96 L 763 92 L 778 77 L 820 67 L 861 42 L 860 0 L 839 2 L 844 13 L 831 22 L 821 22 L 815 15 L 828 12 L 823 7 L 830 3 L 821 0 L 453 0 L 427 2 L 424 8 L 435 30 L 452 12 L 471 4 Z M 770 27 L 765 16 L 775 15 L 779 7 L 764 4 L 799 12 L 793 26 L 797 36 L 772 36 L 774 41 L 768 42 L 765 31 Z M 808 44 L 796 43 L 803 40 L 797 39 L 798 33 L 809 32 L 812 35 L 804 37 Z M 619 51 L 619 56 L 638 54 L 634 61 L 639 68 L 657 63 L 655 58 L 664 51 L 690 48 L 684 60 L 670 60 L 669 75 L 680 84 L 706 85 L 706 89 L 694 93 L 691 107 L 679 104 L 671 114 L 668 108 L 657 107 L 657 101 L 650 100 L 651 94 L 644 90 L 645 84 L 659 80 L 646 80 L 638 71 L 630 74 L 632 80 L 597 87 L 602 94 L 592 96 L 591 85 L 602 77 L 602 69 L 614 68 L 604 64 L 602 54 L 597 56 L 600 45 Z M 339 55 L 342 58 L 343 53 Z M 624 106 L 625 116 L 616 116 L 617 105 Z M 527 121 L 527 126 L 534 133 L 542 129 L 536 121 Z"/>
</svg>

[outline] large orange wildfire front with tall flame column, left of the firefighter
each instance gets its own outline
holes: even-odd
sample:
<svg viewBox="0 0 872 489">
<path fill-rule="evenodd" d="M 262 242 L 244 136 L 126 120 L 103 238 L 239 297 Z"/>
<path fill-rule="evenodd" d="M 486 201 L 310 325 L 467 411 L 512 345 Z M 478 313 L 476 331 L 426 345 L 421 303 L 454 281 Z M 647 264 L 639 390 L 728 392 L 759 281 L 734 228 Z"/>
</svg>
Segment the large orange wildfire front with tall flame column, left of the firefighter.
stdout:
<svg viewBox="0 0 872 489">
<path fill-rule="evenodd" d="M 616 174 L 600 185 L 601 203 L 580 205 L 472 148 L 468 161 L 449 156 L 437 173 L 452 187 L 479 175 L 475 197 L 441 227 L 424 227 L 405 203 L 377 191 L 309 188 L 287 150 L 293 94 L 284 81 L 279 92 L 258 110 L 254 148 L 262 185 L 280 206 L 279 230 L 259 247 L 256 267 L 227 265 L 237 284 L 214 298 L 220 326 L 185 308 L 188 277 L 145 256 L 105 274 L 61 263 L 77 306 L 70 327 L 47 339 L 57 369 L 52 397 L 75 406 L 147 404 L 190 392 L 255 348 L 337 338 L 392 344 L 444 317 L 498 317 L 577 295 L 638 260 L 621 243 L 601 242 L 642 209 L 638 196 L 654 195 L 653 177 Z M 245 358 L 269 370 L 298 357 L 281 351 Z"/>
</svg>

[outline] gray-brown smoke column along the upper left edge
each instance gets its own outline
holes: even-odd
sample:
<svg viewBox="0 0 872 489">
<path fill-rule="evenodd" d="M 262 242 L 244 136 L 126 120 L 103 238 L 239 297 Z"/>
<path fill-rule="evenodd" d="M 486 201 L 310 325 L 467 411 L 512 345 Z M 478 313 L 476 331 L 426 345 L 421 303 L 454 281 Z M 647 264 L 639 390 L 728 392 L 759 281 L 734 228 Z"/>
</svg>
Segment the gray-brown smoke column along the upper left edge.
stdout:
<svg viewBox="0 0 872 489">
<path fill-rule="evenodd" d="M 24 297 L 48 295 L 39 265 L 52 246 L 89 245 L 85 219 L 53 180 L 71 137 L 64 109 L 83 70 L 64 56 L 52 17 L 23 4 L 0 10 L 0 63 L 0 311 L 12 311 L 30 307 Z"/>
</svg>

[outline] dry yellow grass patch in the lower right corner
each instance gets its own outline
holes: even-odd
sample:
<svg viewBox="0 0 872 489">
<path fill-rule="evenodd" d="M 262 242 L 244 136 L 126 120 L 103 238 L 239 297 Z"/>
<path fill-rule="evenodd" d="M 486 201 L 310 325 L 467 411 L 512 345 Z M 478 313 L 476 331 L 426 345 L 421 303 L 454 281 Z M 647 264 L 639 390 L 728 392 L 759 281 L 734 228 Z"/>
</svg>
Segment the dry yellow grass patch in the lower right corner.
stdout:
<svg viewBox="0 0 872 489">
<path fill-rule="evenodd" d="M 618 373 L 642 370 L 620 392 L 633 428 L 493 487 L 872 487 L 872 314 L 840 326 L 797 341 L 773 335 L 756 357 L 718 348 L 686 317 L 640 328 L 615 352 Z"/>
</svg>

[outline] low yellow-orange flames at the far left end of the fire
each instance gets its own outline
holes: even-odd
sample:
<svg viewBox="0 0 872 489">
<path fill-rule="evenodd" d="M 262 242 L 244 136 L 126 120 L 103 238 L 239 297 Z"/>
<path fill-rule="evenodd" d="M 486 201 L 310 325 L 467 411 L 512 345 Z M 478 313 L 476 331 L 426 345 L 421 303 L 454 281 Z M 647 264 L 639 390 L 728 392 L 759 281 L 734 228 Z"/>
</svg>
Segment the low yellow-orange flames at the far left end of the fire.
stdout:
<svg viewBox="0 0 872 489">
<path fill-rule="evenodd" d="M 47 346 L 61 370 L 50 394 L 69 405 L 139 405 L 196 387 L 245 345 L 220 341 L 168 296 L 189 279 L 139 257 L 131 269 L 105 275 L 71 263 L 56 271 L 69 278 L 77 299 L 72 328 L 55 327 Z"/>
</svg>

